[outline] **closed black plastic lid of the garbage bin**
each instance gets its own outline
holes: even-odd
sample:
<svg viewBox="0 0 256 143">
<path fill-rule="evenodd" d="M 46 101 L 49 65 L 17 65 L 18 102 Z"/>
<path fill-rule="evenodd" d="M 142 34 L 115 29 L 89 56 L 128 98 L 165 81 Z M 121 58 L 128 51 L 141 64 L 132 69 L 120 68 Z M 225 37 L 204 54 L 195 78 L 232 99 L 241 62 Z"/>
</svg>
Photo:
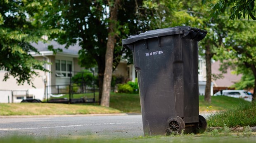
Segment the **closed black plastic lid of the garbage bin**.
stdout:
<svg viewBox="0 0 256 143">
<path fill-rule="evenodd" d="M 207 33 L 206 30 L 200 30 L 198 28 L 191 28 L 190 26 L 176 26 L 173 28 L 149 30 L 144 33 L 142 33 L 142 31 L 140 31 L 140 32 L 137 32 L 136 35 L 130 35 L 127 39 L 123 39 L 122 45 L 132 44 L 132 43 L 137 42 L 142 39 L 149 39 L 149 38 L 162 37 L 162 36 L 168 36 L 168 35 L 185 34 L 185 36 L 186 36 L 191 31 L 200 32 L 199 35 L 200 34 L 202 35 L 202 33 L 203 33 L 204 36 L 201 39 L 203 39 Z M 199 39 L 199 40 L 201 40 L 201 39 Z"/>
</svg>

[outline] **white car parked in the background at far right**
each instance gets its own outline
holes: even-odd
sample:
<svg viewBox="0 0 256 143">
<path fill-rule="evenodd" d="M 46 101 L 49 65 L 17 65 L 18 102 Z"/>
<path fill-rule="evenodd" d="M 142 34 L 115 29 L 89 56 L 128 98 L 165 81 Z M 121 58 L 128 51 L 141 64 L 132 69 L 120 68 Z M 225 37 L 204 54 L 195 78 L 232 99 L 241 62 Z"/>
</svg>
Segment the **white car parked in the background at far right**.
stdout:
<svg viewBox="0 0 256 143">
<path fill-rule="evenodd" d="M 252 100 L 252 95 L 250 92 L 247 92 L 246 90 L 220 90 L 216 92 L 213 96 L 218 95 L 224 95 L 228 97 L 234 97 L 234 98 L 243 98 L 246 101 Z"/>
</svg>

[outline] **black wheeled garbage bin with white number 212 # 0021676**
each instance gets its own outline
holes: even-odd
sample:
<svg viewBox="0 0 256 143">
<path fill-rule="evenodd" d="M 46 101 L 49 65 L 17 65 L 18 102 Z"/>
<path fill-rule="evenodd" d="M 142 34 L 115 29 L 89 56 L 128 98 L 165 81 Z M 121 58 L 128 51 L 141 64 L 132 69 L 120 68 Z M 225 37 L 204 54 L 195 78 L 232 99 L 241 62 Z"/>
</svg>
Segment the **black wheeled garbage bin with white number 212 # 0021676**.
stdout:
<svg viewBox="0 0 256 143">
<path fill-rule="evenodd" d="M 206 30 L 177 26 L 137 32 L 122 44 L 133 51 L 145 135 L 201 133 L 198 41 Z"/>
</svg>

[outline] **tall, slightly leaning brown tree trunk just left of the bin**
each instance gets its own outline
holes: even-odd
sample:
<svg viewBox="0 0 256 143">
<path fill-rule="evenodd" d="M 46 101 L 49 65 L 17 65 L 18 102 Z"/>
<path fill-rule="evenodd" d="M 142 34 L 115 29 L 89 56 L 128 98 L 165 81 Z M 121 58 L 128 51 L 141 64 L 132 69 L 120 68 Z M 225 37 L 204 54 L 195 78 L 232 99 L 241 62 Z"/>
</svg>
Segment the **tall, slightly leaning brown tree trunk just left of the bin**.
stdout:
<svg viewBox="0 0 256 143">
<path fill-rule="evenodd" d="M 106 64 L 103 80 L 103 89 L 102 89 L 102 99 L 101 106 L 109 107 L 110 101 L 110 91 L 111 91 L 111 78 L 112 78 L 112 67 L 113 67 L 113 55 L 114 55 L 114 46 L 116 39 L 116 23 L 117 23 L 117 14 L 118 6 L 120 0 L 115 0 L 113 7 L 111 7 L 111 2 L 108 0 L 110 7 L 110 17 L 109 17 L 109 34 L 107 40 L 107 51 L 106 51 Z"/>
</svg>

